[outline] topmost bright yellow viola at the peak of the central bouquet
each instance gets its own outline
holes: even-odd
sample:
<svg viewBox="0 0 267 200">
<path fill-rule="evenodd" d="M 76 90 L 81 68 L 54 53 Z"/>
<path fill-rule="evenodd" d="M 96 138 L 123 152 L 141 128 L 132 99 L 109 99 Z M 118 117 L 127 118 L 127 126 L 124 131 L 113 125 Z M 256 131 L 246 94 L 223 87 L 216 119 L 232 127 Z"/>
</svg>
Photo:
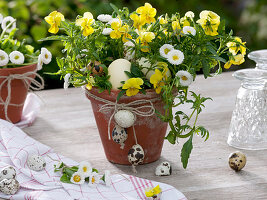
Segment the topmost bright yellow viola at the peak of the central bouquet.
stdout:
<svg viewBox="0 0 267 200">
<path fill-rule="evenodd" d="M 154 17 L 157 14 L 157 10 L 149 3 L 145 3 L 144 6 L 137 8 L 136 12 L 141 15 L 141 18 L 143 18 L 145 23 L 150 24 L 156 21 Z"/>
</svg>

